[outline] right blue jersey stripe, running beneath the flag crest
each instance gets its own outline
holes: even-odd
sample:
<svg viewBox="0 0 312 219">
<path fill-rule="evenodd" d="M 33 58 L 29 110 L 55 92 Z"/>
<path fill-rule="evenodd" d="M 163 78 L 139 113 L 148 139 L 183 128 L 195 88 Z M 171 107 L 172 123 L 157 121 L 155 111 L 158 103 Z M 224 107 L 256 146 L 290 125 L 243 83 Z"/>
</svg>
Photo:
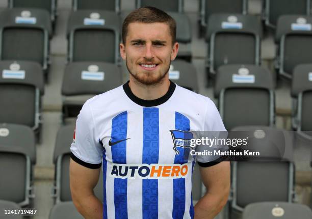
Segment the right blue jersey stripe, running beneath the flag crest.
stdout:
<svg viewBox="0 0 312 219">
<path fill-rule="evenodd" d="M 190 120 L 186 116 L 175 112 L 175 129 L 189 131 Z M 174 163 L 182 164 L 188 162 L 188 160 L 185 159 L 185 153 L 188 154 L 190 149 L 177 147 L 177 150 L 180 153 L 174 157 Z M 185 196 L 185 178 L 173 179 L 173 219 L 183 218 L 185 212 Z"/>
</svg>

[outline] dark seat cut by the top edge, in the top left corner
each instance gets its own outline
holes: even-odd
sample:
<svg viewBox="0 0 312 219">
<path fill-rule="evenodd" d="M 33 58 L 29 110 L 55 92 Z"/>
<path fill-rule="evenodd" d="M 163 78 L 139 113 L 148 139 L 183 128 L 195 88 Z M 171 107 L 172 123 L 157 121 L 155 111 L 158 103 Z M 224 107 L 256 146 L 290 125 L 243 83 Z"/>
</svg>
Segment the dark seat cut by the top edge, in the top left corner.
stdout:
<svg viewBox="0 0 312 219">
<path fill-rule="evenodd" d="M 50 13 L 51 21 L 55 22 L 57 0 L 9 0 L 9 8 L 37 8 L 44 9 Z"/>
</svg>

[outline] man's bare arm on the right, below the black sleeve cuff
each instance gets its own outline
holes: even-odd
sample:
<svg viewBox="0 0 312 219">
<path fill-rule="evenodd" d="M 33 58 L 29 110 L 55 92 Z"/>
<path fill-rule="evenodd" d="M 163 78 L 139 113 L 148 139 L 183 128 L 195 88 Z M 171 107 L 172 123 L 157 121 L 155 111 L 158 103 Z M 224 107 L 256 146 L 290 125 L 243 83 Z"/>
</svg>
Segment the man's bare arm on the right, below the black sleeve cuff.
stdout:
<svg viewBox="0 0 312 219">
<path fill-rule="evenodd" d="M 225 206 L 230 190 L 230 163 L 200 167 L 206 194 L 195 205 L 194 219 L 213 219 Z"/>
</svg>

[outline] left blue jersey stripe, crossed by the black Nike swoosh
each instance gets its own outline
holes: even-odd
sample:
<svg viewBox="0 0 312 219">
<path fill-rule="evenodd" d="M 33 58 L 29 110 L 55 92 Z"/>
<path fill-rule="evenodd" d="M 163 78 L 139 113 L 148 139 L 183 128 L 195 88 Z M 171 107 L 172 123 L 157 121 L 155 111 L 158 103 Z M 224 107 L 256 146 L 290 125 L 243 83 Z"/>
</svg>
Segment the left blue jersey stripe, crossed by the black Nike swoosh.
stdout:
<svg viewBox="0 0 312 219">
<path fill-rule="evenodd" d="M 127 138 L 127 112 L 123 112 L 112 120 L 111 141 L 117 142 Z M 126 163 L 126 141 L 112 146 L 114 163 Z M 128 218 L 127 210 L 127 179 L 114 179 L 115 218 Z"/>
</svg>

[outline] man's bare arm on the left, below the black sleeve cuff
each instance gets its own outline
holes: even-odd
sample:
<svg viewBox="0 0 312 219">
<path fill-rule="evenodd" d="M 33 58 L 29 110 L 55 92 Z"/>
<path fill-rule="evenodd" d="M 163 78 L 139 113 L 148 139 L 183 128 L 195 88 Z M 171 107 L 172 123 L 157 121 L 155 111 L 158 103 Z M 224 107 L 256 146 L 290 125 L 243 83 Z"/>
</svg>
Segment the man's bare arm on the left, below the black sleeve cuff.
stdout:
<svg viewBox="0 0 312 219">
<path fill-rule="evenodd" d="M 102 203 L 93 193 L 100 169 L 89 169 L 70 159 L 69 178 L 72 201 L 84 218 L 101 219 Z"/>
</svg>

